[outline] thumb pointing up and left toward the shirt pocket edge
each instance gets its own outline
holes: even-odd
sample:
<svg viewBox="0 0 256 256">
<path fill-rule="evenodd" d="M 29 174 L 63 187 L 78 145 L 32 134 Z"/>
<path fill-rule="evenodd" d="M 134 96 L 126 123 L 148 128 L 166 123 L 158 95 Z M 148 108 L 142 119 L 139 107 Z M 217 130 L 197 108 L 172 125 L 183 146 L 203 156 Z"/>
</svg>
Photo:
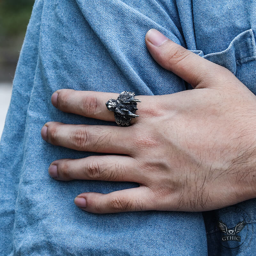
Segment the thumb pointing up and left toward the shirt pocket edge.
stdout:
<svg viewBox="0 0 256 256">
<path fill-rule="evenodd" d="M 216 75 L 227 72 L 228 69 L 206 60 L 188 51 L 179 44 L 165 37 L 158 30 L 148 30 L 145 43 L 152 57 L 163 68 L 172 71 L 195 88 L 204 79 L 214 82 Z M 232 74 L 232 73 L 231 73 Z M 202 87 L 209 87 L 214 83 L 204 83 Z"/>
</svg>

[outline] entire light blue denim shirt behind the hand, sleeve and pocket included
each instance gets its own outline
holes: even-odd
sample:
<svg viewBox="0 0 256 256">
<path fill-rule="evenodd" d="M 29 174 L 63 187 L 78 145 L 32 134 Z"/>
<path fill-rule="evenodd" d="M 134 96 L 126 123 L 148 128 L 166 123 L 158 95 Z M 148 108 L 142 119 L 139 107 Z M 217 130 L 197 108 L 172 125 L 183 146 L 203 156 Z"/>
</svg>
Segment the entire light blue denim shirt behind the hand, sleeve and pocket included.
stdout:
<svg viewBox="0 0 256 256">
<path fill-rule="evenodd" d="M 204 213 L 84 212 L 76 195 L 138 184 L 53 180 L 52 161 L 94 153 L 40 136 L 48 121 L 109 124 L 54 108 L 51 95 L 61 88 L 136 95 L 189 89 L 150 56 L 150 28 L 228 68 L 256 93 L 255 9 L 254 1 L 239 0 L 36 0 L 0 144 L 0 255 L 255 255 L 256 200 Z M 246 220 L 238 249 L 219 242 L 216 220 L 228 228 Z"/>
</svg>

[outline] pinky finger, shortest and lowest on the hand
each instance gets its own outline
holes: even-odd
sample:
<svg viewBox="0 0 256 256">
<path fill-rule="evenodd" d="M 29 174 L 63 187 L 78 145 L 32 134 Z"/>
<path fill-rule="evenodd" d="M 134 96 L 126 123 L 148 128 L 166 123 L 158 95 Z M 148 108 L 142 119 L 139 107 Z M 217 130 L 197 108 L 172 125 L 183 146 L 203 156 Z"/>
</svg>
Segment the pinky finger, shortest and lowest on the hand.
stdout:
<svg viewBox="0 0 256 256">
<path fill-rule="evenodd" d="M 150 191 L 148 187 L 142 185 L 109 194 L 87 192 L 76 196 L 74 202 L 81 209 L 93 213 L 156 210 Z"/>
</svg>

